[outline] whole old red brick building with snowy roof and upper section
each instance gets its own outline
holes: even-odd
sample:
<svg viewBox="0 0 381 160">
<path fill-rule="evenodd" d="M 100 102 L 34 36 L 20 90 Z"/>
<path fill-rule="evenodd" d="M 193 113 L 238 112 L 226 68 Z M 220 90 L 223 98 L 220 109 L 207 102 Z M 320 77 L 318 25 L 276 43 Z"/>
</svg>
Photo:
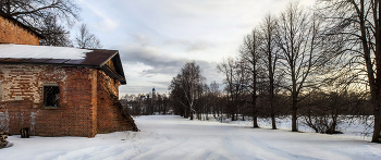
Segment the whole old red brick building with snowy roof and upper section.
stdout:
<svg viewBox="0 0 381 160">
<path fill-rule="evenodd" d="M 38 33 L 1 15 L 0 29 L 0 130 L 87 137 L 137 131 L 118 98 L 126 84 L 118 50 L 33 46 Z"/>
</svg>

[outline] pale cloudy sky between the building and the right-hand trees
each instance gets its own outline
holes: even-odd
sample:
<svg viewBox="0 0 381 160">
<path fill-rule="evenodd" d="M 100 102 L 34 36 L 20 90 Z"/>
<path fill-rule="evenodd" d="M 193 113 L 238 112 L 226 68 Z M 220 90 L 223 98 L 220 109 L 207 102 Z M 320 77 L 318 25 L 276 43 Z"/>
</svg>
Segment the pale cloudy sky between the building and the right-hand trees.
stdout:
<svg viewBox="0 0 381 160">
<path fill-rule="evenodd" d="M 119 50 L 127 85 L 120 94 L 158 93 L 180 69 L 195 61 L 208 84 L 221 84 L 216 65 L 233 57 L 243 37 L 266 14 L 280 13 L 290 0 L 77 0 L 82 23 L 105 49 Z M 300 0 L 310 5 L 314 0 Z"/>
</svg>

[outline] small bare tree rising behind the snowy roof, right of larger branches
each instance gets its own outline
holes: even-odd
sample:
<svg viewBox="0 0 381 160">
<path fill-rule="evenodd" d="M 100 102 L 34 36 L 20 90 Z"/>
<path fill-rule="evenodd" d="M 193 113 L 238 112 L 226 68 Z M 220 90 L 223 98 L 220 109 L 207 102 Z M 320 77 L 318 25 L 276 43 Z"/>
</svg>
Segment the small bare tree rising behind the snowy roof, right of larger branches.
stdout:
<svg viewBox="0 0 381 160">
<path fill-rule="evenodd" d="M 91 33 L 89 33 L 86 24 L 79 27 L 79 35 L 75 37 L 75 46 L 77 48 L 99 49 L 102 48 L 100 40 Z"/>
</svg>

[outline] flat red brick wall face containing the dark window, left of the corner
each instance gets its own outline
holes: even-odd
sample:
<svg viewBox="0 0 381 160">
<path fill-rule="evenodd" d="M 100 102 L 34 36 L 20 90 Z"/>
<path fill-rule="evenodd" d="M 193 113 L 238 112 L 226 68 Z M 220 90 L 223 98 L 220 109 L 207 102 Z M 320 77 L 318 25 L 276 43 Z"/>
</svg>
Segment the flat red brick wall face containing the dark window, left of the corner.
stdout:
<svg viewBox="0 0 381 160">
<path fill-rule="evenodd" d="M 20 134 L 21 127 L 30 127 L 30 135 L 39 136 L 97 133 L 97 70 L 1 64 L 0 81 L 0 128 Z M 44 84 L 59 85 L 58 109 L 42 107 Z"/>
</svg>

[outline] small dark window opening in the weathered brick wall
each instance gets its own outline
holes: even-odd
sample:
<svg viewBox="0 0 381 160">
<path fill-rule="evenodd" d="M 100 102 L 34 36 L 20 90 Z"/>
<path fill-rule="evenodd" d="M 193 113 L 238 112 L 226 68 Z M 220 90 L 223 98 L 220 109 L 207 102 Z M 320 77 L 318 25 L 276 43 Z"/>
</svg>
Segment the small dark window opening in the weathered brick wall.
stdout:
<svg viewBox="0 0 381 160">
<path fill-rule="evenodd" d="M 60 107 L 60 88 L 58 86 L 44 86 L 44 106 Z"/>
</svg>

